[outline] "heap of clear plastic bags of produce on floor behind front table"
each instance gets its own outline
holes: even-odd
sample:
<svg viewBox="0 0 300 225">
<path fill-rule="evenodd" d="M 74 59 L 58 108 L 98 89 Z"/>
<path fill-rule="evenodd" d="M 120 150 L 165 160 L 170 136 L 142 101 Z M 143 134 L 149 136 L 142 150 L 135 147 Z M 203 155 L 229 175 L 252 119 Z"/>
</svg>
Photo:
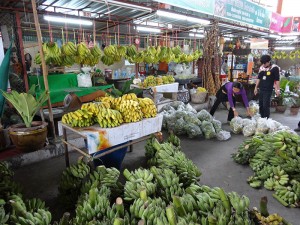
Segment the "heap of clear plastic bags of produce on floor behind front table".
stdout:
<svg viewBox="0 0 300 225">
<path fill-rule="evenodd" d="M 169 133 L 218 140 L 228 140 L 231 137 L 230 132 L 222 130 L 222 123 L 215 120 L 205 109 L 197 113 L 190 104 L 174 101 L 164 106 L 160 113 L 163 115 L 163 129 Z"/>
</svg>

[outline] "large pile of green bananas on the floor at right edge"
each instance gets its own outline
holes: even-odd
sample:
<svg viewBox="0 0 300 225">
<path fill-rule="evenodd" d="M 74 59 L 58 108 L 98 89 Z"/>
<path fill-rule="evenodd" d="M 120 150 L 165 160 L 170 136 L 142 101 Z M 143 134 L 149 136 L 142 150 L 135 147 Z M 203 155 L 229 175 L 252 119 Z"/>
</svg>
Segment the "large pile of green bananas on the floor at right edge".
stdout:
<svg viewBox="0 0 300 225">
<path fill-rule="evenodd" d="M 257 135 L 244 141 L 233 155 L 240 164 L 249 163 L 254 175 L 249 185 L 274 190 L 273 195 L 285 206 L 300 206 L 300 137 L 289 131 Z"/>
</svg>

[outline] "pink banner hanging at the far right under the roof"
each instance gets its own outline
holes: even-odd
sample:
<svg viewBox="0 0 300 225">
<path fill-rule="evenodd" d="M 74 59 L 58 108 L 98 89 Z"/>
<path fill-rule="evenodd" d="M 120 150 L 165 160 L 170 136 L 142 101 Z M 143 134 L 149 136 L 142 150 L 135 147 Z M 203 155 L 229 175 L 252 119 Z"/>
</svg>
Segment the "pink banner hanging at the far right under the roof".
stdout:
<svg viewBox="0 0 300 225">
<path fill-rule="evenodd" d="M 272 12 L 270 30 L 280 33 L 289 33 L 291 32 L 292 27 L 292 17 L 283 17 L 278 13 Z"/>
</svg>

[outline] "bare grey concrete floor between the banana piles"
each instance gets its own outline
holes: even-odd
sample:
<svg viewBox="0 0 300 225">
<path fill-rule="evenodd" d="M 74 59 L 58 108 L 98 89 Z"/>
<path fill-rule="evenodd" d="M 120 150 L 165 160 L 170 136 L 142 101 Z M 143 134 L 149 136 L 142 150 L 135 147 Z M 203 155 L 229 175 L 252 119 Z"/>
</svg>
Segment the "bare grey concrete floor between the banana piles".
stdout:
<svg viewBox="0 0 300 225">
<path fill-rule="evenodd" d="M 242 108 L 239 111 L 244 111 Z M 284 125 L 296 128 L 299 116 L 272 113 L 271 117 Z M 227 111 L 218 110 L 215 118 L 221 120 L 223 129 L 229 130 L 226 124 Z M 237 151 L 237 147 L 245 138 L 242 135 L 234 135 L 229 141 L 220 142 L 217 140 L 197 140 L 181 138 L 182 149 L 201 169 L 201 184 L 208 186 L 219 186 L 226 191 L 236 191 L 239 194 L 247 195 L 251 200 L 251 206 L 259 206 L 259 200 L 263 196 L 268 197 L 268 209 L 270 213 L 279 213 L 290 223 L 299 223 L 299 209 L 285 208 L 272 197 L 272 191 L 266 189 L 256 190 L 251 188 L 246 179 L 252 175 L 248 166 L 236 164 L 231 159 L 231 154 Z M 134 151 L 127 153 L 124 159 L 123 168 L 135 169 L 145 166 L 144 142 L 134 146 Z M 79 155 L 71 153 L 71 162 Z M 15 170 L 15 179 L 24 187 L 26 197 L 39 197 L 46 201 L 54 219 L 60 218 L 63 210 L 57 202 L 57 184 L 62 170 L 65 168 L 64 157 L 56 157 L 51 160 L 38 162 Z M 298 216 L 297 216 L 298 215 Z"/>
</svg>

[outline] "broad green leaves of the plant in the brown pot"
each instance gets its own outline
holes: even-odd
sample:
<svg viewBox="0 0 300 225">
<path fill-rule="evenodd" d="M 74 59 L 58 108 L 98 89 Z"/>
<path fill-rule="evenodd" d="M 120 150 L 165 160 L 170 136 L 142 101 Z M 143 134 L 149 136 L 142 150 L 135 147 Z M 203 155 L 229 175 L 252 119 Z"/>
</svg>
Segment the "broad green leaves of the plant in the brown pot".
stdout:
<svg viewBox="0 0 300 225">
<path fill-rule="evenodd" d="M 35 99 L 32 94 L 34 90 L 35 85 L 31 86 L 28 93 L 19 93 L 14 90 L 11 93 L 6 93 L 0 90 L 6 100 L 18 111 L 26 127 L 31 127 L 33 117 L 49 97 L 48 93 L 44 91 L 38 99 Z"/>
</svg>

